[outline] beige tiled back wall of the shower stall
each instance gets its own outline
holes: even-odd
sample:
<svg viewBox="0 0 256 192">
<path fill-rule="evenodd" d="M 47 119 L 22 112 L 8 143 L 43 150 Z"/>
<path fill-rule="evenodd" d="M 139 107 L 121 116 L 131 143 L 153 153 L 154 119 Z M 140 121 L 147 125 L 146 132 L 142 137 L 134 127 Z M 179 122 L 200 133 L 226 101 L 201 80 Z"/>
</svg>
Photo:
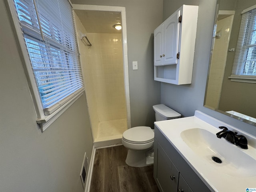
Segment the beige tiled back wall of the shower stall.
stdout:
<svg viewBox="0 0 256 192">
<path fill-rule="evenodd" d="M 126 119 L 122 34 L 87 34 L 86 60 L 92 75 L 100 122 Z M 89 75 L 89 74 L 88 74 Z M 87 82 L 86 82 L 87 83 Z"/>
</svg>

